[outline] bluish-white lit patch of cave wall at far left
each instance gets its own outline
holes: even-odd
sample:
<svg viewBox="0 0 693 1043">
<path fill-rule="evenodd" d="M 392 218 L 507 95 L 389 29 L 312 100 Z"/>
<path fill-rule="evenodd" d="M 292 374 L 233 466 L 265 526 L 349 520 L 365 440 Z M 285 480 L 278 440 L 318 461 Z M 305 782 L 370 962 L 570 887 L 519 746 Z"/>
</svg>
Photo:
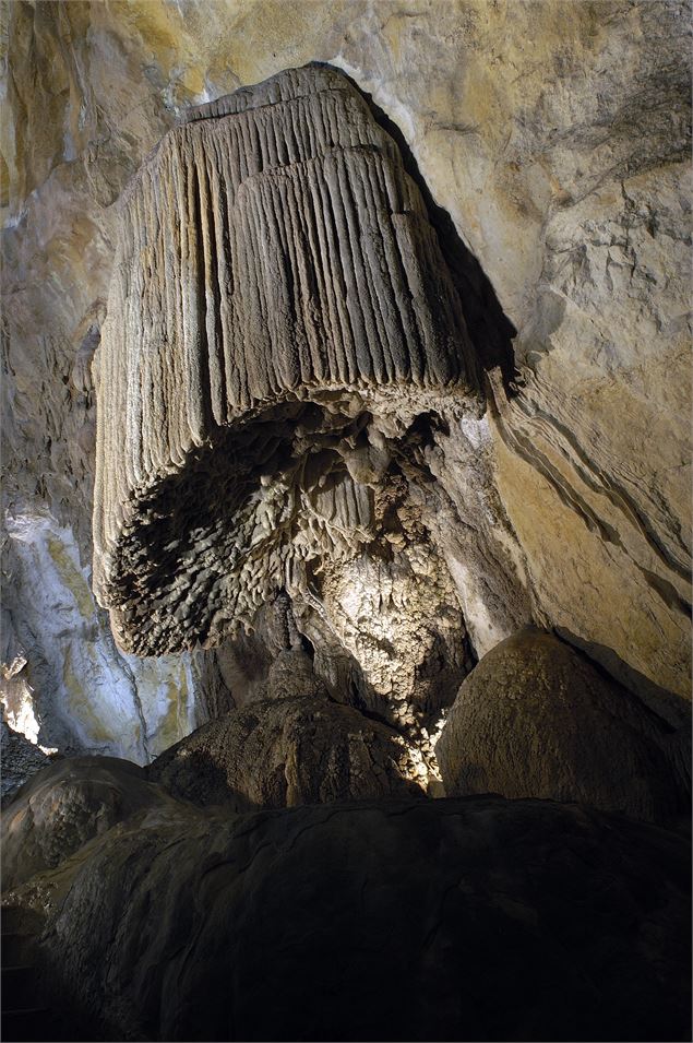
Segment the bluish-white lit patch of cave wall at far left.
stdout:
<svg viewBox="0 0 693 1043">
<path fill-rule="evenodd" d="M 187 735 L 189 659 L 118 654 L 72 531 L 49 514 L 12 514 L 5 524 L 13 607 L 3 618 L 0 700 L 10 726 L 46 749 L 140 763 Z"/>
</svg>

